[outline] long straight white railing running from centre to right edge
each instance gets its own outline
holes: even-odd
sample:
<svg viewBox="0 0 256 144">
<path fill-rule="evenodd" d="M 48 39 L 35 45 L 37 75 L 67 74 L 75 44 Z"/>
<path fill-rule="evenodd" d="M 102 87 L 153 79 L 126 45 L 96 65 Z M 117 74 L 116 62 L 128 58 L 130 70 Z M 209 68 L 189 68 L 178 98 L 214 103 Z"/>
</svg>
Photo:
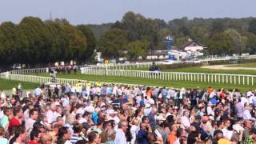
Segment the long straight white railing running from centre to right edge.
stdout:
<svg viewBox="0 0 256 144">
<path fill-rule="evenodd" d="M 163 81 L 187 81 L 187 82 L 211 82 L 228 83 L 234 85 L 254 86 L 256 84 L 255 75 L 244 74 L 207 74 L 207 73 L 183 73 L 183 72 L 153 72 L 143 70 L 104 70 L 84 68 L 82 74 L 106 75 L 118 77 L 137 77 L 158 79 Z"/>
</svg>

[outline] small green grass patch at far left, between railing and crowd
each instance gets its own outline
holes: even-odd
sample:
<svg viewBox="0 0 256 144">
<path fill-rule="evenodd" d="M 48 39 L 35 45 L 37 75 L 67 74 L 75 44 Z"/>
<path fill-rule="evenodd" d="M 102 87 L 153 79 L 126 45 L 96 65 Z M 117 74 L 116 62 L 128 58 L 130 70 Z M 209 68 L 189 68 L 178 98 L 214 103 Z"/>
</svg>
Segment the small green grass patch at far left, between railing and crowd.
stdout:
<svg viewBox="0 0 256 144">
<path fill-rule="evenodd" d="M 11 90 L 14 86 L 17 87 L 18 83 L 21 83 L 23 89 L 26 90 L 34 89 L 35 86 L 37 86 L 37 84 L 33 82 L 20 82 L 0 78 L 0 90 Z"/>
</svg>

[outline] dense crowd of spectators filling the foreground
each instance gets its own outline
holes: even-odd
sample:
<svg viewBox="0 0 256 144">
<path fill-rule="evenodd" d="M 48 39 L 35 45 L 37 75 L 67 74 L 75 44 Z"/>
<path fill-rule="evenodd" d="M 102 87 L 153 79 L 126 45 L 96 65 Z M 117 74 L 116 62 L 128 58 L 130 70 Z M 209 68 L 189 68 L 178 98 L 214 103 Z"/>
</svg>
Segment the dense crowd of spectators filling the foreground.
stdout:
<svg viewBox="0 0 256 144">
<path fill-rule="evenodd" d="M 0 143 L 256 142 L 254 90 L 78 86 L 2 92 Z"/>
</svg>

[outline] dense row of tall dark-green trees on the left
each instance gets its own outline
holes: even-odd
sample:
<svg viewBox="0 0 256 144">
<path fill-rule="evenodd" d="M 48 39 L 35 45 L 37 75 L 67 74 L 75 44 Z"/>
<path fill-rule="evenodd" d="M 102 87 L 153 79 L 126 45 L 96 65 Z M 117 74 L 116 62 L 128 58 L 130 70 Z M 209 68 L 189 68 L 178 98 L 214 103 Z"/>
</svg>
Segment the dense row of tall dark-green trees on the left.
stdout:
<svg viewBox="0 0 256 144">
<path fill-rule="evenodd" d="M 26 17 L 15 25 L 0 26 L 0 65 L 27 65 L 57 61 L 89 60 L 96 47 L 96 38 L 89 26 L 72 26 L 65 19 L 42 22 Z"/>
</svg>

